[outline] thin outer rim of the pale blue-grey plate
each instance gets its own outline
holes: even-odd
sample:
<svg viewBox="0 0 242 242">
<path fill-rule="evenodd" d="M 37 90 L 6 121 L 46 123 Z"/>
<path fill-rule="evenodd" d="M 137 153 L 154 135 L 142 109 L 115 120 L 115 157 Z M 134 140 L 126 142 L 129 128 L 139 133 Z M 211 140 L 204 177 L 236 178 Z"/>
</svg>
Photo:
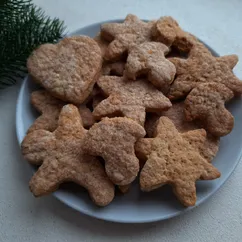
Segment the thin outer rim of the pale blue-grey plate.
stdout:
<svg viewBox="0 0 242 242">
<path fill-rule="evenodd" d="M 91 28 L 91 27 L 94 27 L 94 26 L 97 26 L 97 25 L 101 25 L 101 24 L 104 24 L 104 23 L 111 23 L 111 22 L 122 22 L 124 21 L 124 19 L 111 19 L 111 20 L 106 20 L 106 21 L 100 21 L 100 22 L 95 22 L 95 23 L 92 23 L 92 24 L 89 24 L 89 25 L 86 25 L 86 26 L 83 26 L 81 28 L 78 28 L 70 33 L 67 34 L 67 36 L 72 36 L 72 35 L 77 35 L 78 32 L 82 31 L 83 29 L 86 29 L 86 28 Z M 148 20 L 144 20 L 143 21 L 148 21 Z M 80 34 L 78 34 L 80 35 Z M 204 43 L 204 42 L 203 42 Z M 211 49 L 214 53 L 216 53 L 218 55 L 218 53 L 212 49 L 210 46 L 208 46 L 206 43 L 204 43 L 209 49 Z M 219 56 L 219 55 L 218 55 Z M 23 95 L 24 93 L 24 90 L 25 90 L 25 86 L 27 85 L 27 82 L 28 82 L 28 78 L 29 78 L 29 75 L 27 74 L 26 77 L 23 79 L 22 81 L 22 84 L 21 84 L 21 87 L 20 87 L 20 91 L 18 93 L 18 97 L 17 97 L 17 103 L 16 103 L 16 116 L 15 116 L 15 129 L 16 129 L 16 135 L 17 135 L 17 140 L 18 140 L 18 144 L 20 146 L 20 149 L 21 149 L 21 142 L 22 142 L 22 139 L 21 139 L 21 132 L 20 132 L 20 127 L 19 125 L 21 124 L 22 125 L 22 122 L 19 122 L 19 120 L 21 121 L 22 118 L 21 118 L 21 115 L 20 115 L 20 110 L 21 110 L 21 105 L 20 105 L 20 100 L 21 100 L 21 96 Z M 22 129 L 23 130 L 23 129 Z M 22 157 L 24 159 L 24 157 Z M 152 218 L 147 218 L 147 219 L 120 219 L 120 218 L 116 218 L 116 217 L 105 217 L 105 215 L 103 214 L 95 214 L 94 212 L 91 212 L 91 211 L 88 211 L 88 210 L 85 210 L 85 209 L 80 209 L 80 207 L 77 207 L 75 206 L 75 204 L 72 204 L 71 202 L 69 202 L 68 200 L 65 200 L 63 199 L 59 194 L 58 194 L 58 191 L 52 193 L 51 195 L 53 195 L 55 198 L 57 198 L 60 202 L 64 203 L 65 205 L 67 205 L 68 207 L 70 207 L 71 209 L 74 209 L 78 212 L 81 212 L 82 214 L 85 214 L 87 216 L 90 216 L 92 218 L 96 218 L 96 219 L 99 219 L 99 220 L 103 220 L 103 221 L 108 221 L 108 222 L 115 222 L 115 223 L 123 223 L 123 224 L 142 224 L 142 223 L 152 223 L 152 222 L 157 222 L 157 221 L 164 221 L 164 220 L 167 220 L 167 219 L 171 219 L 171 218 L 174 218 L 174 217 L 177 217 L 177 216 L 180 216 L 180 215 L 183 215 L 184 213 L 188 212 L 188 211 L 191 211 L 193 210 L 194 208 L 198 207 L 199 205 L 201 205 L 202 203 L 206 202 L 209 200 L 210 197 L 212 197 L 215 193 L 217 193 L 217 191 L 225 184 L 225 182 L 228 181 L 228 179 L 230 178 L 230 176 L 234 173 L 236 167 L 238 166 L 239 162 L 241 161 L 242 159 L 242 143 L 241 143 L 241 149 L 240 149 L 240 153 L 238 154 L 238 159 L 236 160 L 236 162 L 234 163 L 232 169 L 231 169 L 231 172 L 227 174 L 227 176 L 224 178 L 224 180 L 221 182 L 221 184 L 211 193 L 203 196 L 199 201 L 197 201 L 196 205 L 195 206 L 192 206 L 192 207 L 187 207 L 182 210 L 182 211 L 176 211 L 174 213 L 171 213 L 169 215 L 166 215 L 166 216 L 157 216 L 155 217 L 154 219 Z M 27 162 L 27 164 L 29 165 L 29 167 L 32 169 L 31 165 Z"/>
</svg>

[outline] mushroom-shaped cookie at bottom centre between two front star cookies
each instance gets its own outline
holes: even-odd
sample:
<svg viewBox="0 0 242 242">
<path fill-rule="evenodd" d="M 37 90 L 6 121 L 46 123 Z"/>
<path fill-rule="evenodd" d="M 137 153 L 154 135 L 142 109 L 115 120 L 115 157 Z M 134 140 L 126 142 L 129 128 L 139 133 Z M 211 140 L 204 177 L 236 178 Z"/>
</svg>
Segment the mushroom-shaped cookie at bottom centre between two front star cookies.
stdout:
<svg viewBox="0 0 242 242">
<path fill-rule="evenodd" d="M 128 185 L 139 172 L 134 144 L 144 136 L 144 128 L 129 118 L 104 118 L 89 129 L 84 150 L 105 160 L 106 173 L 114 184 Z"/>
</svg>

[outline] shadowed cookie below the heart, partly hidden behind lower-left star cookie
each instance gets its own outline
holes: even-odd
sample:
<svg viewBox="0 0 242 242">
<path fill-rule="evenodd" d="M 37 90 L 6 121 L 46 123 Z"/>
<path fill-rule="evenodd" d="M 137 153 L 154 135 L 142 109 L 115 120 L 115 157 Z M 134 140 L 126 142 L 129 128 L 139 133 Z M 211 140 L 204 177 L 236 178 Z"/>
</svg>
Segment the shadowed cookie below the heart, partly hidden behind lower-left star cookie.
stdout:
<svg viewBox="0 0 242 242">
<path fill-rule="evenodd" d="M 51 96 L 45 90 L 32 92 L 31 103 L 41 115 L 30 126 L 28 132 L 38 129 L 54 131 L 58 126 L 60 111 L 66 103 Z M 83 126 L 85 128 L 91 127 L 95 123 L 95 120 L 90 109 L 84 104 L 79 105 L 78 109 L 82 117 Z"/>
</svg>

